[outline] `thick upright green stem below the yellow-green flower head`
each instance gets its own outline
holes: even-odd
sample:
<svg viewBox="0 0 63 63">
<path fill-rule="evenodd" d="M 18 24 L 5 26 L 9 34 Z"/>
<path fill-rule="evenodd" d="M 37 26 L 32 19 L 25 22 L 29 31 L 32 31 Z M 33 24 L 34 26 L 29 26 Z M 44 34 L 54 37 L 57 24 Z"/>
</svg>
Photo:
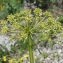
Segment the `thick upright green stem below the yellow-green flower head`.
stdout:
<svg viewBox="0 0 63 63">
<path fill-rule="evenodd" d="M 29 45 L 29 55 L 30 55 L 30 63 L 34 63 L 34 58 L 33 58 L 33 48 L 32 48 L 32 39 L 30 32 L 28 33 L 28 45 Z"/>
</svg>

